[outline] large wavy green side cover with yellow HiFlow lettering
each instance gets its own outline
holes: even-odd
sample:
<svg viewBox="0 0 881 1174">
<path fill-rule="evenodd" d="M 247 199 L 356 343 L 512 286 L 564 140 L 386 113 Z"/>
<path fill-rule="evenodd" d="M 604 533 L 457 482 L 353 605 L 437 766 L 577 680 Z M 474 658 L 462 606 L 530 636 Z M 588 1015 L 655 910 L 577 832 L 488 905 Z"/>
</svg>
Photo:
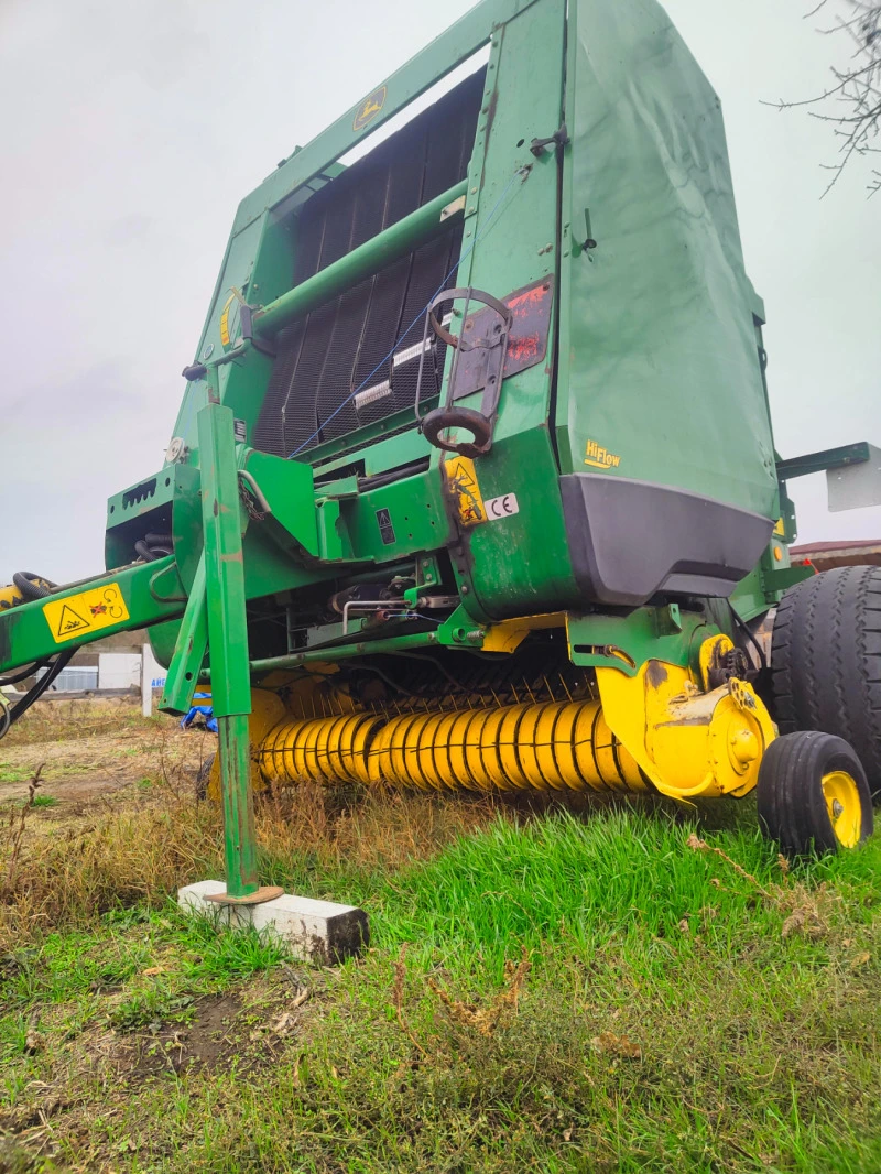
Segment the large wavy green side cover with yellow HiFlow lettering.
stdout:
<svg viewBox="0 0 881 1174">
<path fill-rule="evenodd" d="M 572 0 L 569 25 L 563 468 L 593 443 L 611 475 L 776 518 L 719 100 L 654 0 Z"/>
</svg>

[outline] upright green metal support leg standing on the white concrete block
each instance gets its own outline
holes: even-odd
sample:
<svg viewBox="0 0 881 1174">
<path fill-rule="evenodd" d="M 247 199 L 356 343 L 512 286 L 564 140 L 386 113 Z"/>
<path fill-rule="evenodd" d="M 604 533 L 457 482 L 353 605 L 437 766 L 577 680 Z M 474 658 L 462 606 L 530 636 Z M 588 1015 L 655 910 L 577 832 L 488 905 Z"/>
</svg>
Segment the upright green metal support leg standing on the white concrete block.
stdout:
<svg viewBox="0 0 881 1174">
<path fill-rule="evenodd" d="M 242 525 L 233 412 L 217 403 L 199 413 L 202 521 L 211 704 L 220 733 L 227 898 L 258 890 L 248 714 L 251 711 Z"/>
</svg>

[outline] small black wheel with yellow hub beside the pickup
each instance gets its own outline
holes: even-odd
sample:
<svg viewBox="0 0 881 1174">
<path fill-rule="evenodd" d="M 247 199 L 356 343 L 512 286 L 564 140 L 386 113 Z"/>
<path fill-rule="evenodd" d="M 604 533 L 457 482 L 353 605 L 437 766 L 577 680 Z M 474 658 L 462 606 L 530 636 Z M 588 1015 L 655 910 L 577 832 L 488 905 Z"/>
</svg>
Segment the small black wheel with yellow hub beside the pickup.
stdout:
<svg viewBox="0 0 881 1174">
<path fill-rule="evenodd" d="M 839 775 L 848 776 L 853 794 L 845 782 L 846 805 L 839 804 L 835 816 Z M 759 768 L 756 798 L 762 830 L 792 856 L 856 848 L 872 835 L 866 771 L 853 748 L 833 734 L 802 730 L 772 742 Z"/>
</svg>

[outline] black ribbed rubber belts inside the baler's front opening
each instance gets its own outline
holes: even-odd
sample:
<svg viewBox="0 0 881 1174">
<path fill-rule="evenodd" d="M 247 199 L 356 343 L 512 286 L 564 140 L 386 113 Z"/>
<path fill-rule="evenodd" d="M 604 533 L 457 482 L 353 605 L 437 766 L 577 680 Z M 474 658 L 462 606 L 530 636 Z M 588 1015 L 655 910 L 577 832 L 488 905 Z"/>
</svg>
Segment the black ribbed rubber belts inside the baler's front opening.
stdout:
<svg viewBox="0 0 881 1174">
<path fill-rule="evenodd" d="M 484 80 L 485 70 L 468 77 L 303 204 L 295 225 L 295 285 L 463 178 Z M 409 362 L 392 358 L 371 378 L 371 386 L 388 382 L 388 393 L 338 410 L 392 348 L 398 353 L 418 343 L 415 332 L 399 339 L 398 335 L 443 282 L 460 245 L 459 220 L 445 234 L 281 331 L 255 446 L 288 456 L 409 407 L 418 352 Z M 444 350 L 438 344 L 426 357 L 426 396 L 439 391 Z"/>
</svg>

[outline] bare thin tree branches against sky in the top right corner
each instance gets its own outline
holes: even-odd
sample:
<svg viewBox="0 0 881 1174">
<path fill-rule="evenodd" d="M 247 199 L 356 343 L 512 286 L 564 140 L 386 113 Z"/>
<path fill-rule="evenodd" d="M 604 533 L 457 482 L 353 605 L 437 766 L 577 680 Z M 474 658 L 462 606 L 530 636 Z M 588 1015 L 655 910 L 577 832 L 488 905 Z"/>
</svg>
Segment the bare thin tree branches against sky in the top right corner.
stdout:
<svg viewBox="0 0 881 1174">
<path fill-rule="evenodd" d="M 764 102 L 778 110 L 791 110 L 800 106 L 813 106 L 812 119 L 830 122 L 839 144 L 838 158 L 821 164 L 832 171 L 832 178 L 823 191 L 828 195 L 835 187 L 845 168 L 855 158 L 881 154 L 881 2 L 875 0 L 839 0 L 842 11 L 835 12 L 829 28 L 818 29 L 823 36 L 838 36 L 849 42 L 848 63 L 843 68 L 833 66 L 835 79 L 821 94 L 801 101 Z M 833 7 L 833 0 L 820 2 L 806 13 L 805 19 L 816 16 Z M 870 168 L 867 184 L 869 195 L 881 191 L 881 169 Z"/>
</svg>

